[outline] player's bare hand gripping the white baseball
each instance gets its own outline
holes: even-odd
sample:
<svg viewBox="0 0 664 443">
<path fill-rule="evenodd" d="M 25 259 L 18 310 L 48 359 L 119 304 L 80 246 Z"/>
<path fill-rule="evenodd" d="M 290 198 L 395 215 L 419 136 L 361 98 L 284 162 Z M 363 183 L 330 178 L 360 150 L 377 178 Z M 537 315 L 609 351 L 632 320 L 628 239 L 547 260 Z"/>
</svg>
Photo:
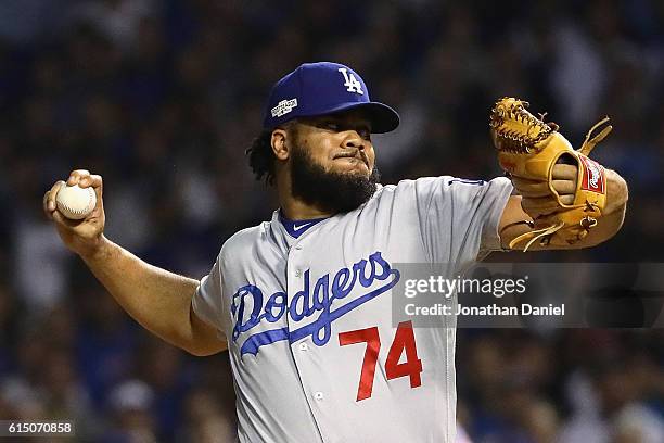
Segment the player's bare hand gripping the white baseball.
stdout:
<svg viewBox="0 0 664 443">
<path fill-rule="evenodd" d="M 58 211 L 55 195 L 64 186 L 78 185 L 81 188 L 92 187 L 97 193 L 97 206 L 84 219 L 72 220 Z M 102 200 L 102 178 L 86 169 L 76 169 L 66 181 L 59 180 L 43 195 L 43 212 L 53 220 L 60 238 L 73 252 L 84 256 L 93 254 L 103 240 L 105 215 Z"/>
</svg>

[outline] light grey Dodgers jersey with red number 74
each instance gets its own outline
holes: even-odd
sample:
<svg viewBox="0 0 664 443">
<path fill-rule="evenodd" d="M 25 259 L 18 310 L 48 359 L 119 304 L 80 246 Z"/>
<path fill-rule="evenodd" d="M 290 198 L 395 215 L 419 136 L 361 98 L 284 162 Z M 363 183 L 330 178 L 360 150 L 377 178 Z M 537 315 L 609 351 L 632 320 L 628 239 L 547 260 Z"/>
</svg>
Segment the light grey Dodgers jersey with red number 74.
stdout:
<svg viewBox="0 0 664 443">
<path fill-rule="evenodd" d="M 455 325 L 393 322 L 393 264 L 454 274 L 499 249 L 511 190 L 404 180 L 298 238 L 279 211 L 231 237 L 192 304 L 228 338 L 239 441 L 454 443 Z"/>
</svg>

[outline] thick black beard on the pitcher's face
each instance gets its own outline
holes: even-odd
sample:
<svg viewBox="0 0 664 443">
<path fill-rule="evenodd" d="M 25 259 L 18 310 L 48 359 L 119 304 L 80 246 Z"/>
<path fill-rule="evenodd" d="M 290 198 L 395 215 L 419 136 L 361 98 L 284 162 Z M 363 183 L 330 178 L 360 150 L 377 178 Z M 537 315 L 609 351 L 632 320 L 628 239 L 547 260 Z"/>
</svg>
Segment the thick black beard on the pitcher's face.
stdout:
<svg viewBox="0 0 664 443">
<path fill-rule="evenodd" d="M 303 202 L 330 213 L 357 210 L 371 199 L 381 175 L 378 167 L 369 177 L 353 173 L 329 173 L 308 152 L 293 147 L 291 192 Z"/>
</svg>

